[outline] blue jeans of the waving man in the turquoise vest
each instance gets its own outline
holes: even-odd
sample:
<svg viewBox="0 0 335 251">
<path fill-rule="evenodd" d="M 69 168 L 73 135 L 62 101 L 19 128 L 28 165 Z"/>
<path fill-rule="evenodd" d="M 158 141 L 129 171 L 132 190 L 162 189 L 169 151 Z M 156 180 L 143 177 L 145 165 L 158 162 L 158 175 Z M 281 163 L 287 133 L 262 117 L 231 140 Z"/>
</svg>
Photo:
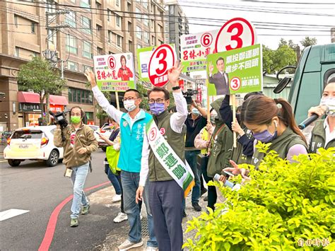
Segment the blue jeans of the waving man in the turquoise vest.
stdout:
<svg viewBox="0 0 335 251">
<path fill-rule="evenodd" d="M 128 216 L 130 226 L 129 240 L 131 243 L 139 243 L 142 240 L 142 226 L 140 219 L 139 205 L 136 204 L 136 190 L 139 187 L 139 173 L 131 173 L 121 171 L 122 189 L 124 195 L 124 212 Z M 148 183 L 148 182 L 147 182 Z M 148 185 L 145 186 L 143 199 L 146 204 L 146 211 L 148 212 L 148 230 L 149 240 L 148 247 L 158 247 L 155 233 L 153 232 L 153 216 L 148 205 Z"/>
</svg>

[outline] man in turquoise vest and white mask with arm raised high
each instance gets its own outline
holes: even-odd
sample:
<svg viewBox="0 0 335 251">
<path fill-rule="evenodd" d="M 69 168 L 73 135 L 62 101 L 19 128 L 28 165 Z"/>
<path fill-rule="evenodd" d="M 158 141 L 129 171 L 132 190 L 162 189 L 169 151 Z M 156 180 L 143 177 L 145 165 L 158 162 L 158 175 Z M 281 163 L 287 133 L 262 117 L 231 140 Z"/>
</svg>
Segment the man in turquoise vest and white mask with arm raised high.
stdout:
<svg viewBox="0 0 335 251">
<path fill-rule="evenodd" d="M 139 187 L 141 170 L 141 153 L 143 148 L 143 129 L 151 121 L 152 116 L 140 109 L 141 98 L 139 91 L 129 89 L 124 93 L 124 108 L 127 113 L 117 110 L 110 105 L 105 95 L 99 90 L 95 76 L 89 69 L 86 77 L 90 81 L 95 99 L 108 116 L 120 125 L 121 148 L 117 167 L 121 169 L 124 212 L 128 216 L 130 225 L 129 238 L 119 245 L 119 250 L 129 250 L 143 245 L 141 233 L 141 219 L 139 205 L 136 204 L 136 189 Z M 148 191 L 144 192 L 145 197 Z M 147 199 L 144 200 L 148 213 L 149 240 L 148 247 L 158 246 L 153 232 L 153 216 L 151 215 Z"/>
</svg>

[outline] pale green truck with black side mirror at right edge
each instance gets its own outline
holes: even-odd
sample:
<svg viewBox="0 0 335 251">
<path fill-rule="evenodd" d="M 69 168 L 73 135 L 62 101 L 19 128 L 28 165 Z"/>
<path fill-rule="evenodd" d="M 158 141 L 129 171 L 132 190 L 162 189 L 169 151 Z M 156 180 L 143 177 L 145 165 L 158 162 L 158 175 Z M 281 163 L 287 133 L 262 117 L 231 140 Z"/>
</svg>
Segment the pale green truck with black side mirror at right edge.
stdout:
<svg viewBox="0 0 335 251">
<path fill-rule="evenodd" d="M 306 119 L 310 107 L 319 105 L 324 86 L 333 77 L 335 77 L 335 43 L 305 48 L 295 70 L 288 96 L 288 102 L 293 107 L 298 124 Z M 288 77 L 281 79 L 274 92 L 283 91 L 290 80 Z"/>
</svg>

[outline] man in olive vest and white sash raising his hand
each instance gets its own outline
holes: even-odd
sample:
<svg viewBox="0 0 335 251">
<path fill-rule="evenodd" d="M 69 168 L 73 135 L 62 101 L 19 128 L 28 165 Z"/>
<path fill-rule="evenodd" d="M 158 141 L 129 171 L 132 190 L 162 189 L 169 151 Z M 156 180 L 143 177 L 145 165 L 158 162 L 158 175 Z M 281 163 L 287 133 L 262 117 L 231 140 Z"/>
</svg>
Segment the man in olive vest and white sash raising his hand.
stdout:
<svg viewBox="0 0 335 251">
<path fill-rule="evenodd" d="M 184 156 L 184 122 L 187 119 L 187 102 L 182 95 L 178 78 L 180 62 L 168 72 L 172 84 L 177 112 L 170 113 L 170 93 L 155 87 L 148 91 L 153 119 L 146 124 L 143 143 L 142 168 L 136 201 L 143 199 L 147 176 L 149 204 L 153 213 L 155 236 L 159 250 L 182 250 L 182 200 L 194 185 L 194 175 Z"/>
</svg>

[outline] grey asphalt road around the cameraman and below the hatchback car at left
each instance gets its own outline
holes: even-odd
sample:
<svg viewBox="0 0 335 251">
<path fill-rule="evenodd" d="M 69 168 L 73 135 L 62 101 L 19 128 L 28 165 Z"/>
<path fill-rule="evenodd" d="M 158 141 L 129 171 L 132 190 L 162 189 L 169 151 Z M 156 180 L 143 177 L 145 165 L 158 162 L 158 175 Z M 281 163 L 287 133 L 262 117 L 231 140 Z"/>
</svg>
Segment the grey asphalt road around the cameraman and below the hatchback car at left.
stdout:
<svg viewBox="0 0 335 251">
<path fill-rule="evenodd" d="M 88 175 L 86 188 L 108 181 L 103 158 L 105 153 L 100 149 L 93 153 L 93 173 Z M 47 168 L 45 163 L 26 160 L 15 168 L 6 162 L 1 162 L 0 167 L 0 211 L 29 210 L 26 214 L 0 221 L 0 250 L 37 250 L 52 211 L 72 194 L 71 180 L 63 176 L 64 165 L 61 163 Z M 107 186 L 110 184 L 98 189 Z M 50 250 L 90 250 L 105 240 L 107 233 L 125 224 L 112 222 L 119 212 L 117 205 L 108 208 L 101 204 L 91 208 L 90 217 L 79 217 L 78 228 L 70 228 L 70 207 L 71 202 L 59 214 Z"/>
</svg>

